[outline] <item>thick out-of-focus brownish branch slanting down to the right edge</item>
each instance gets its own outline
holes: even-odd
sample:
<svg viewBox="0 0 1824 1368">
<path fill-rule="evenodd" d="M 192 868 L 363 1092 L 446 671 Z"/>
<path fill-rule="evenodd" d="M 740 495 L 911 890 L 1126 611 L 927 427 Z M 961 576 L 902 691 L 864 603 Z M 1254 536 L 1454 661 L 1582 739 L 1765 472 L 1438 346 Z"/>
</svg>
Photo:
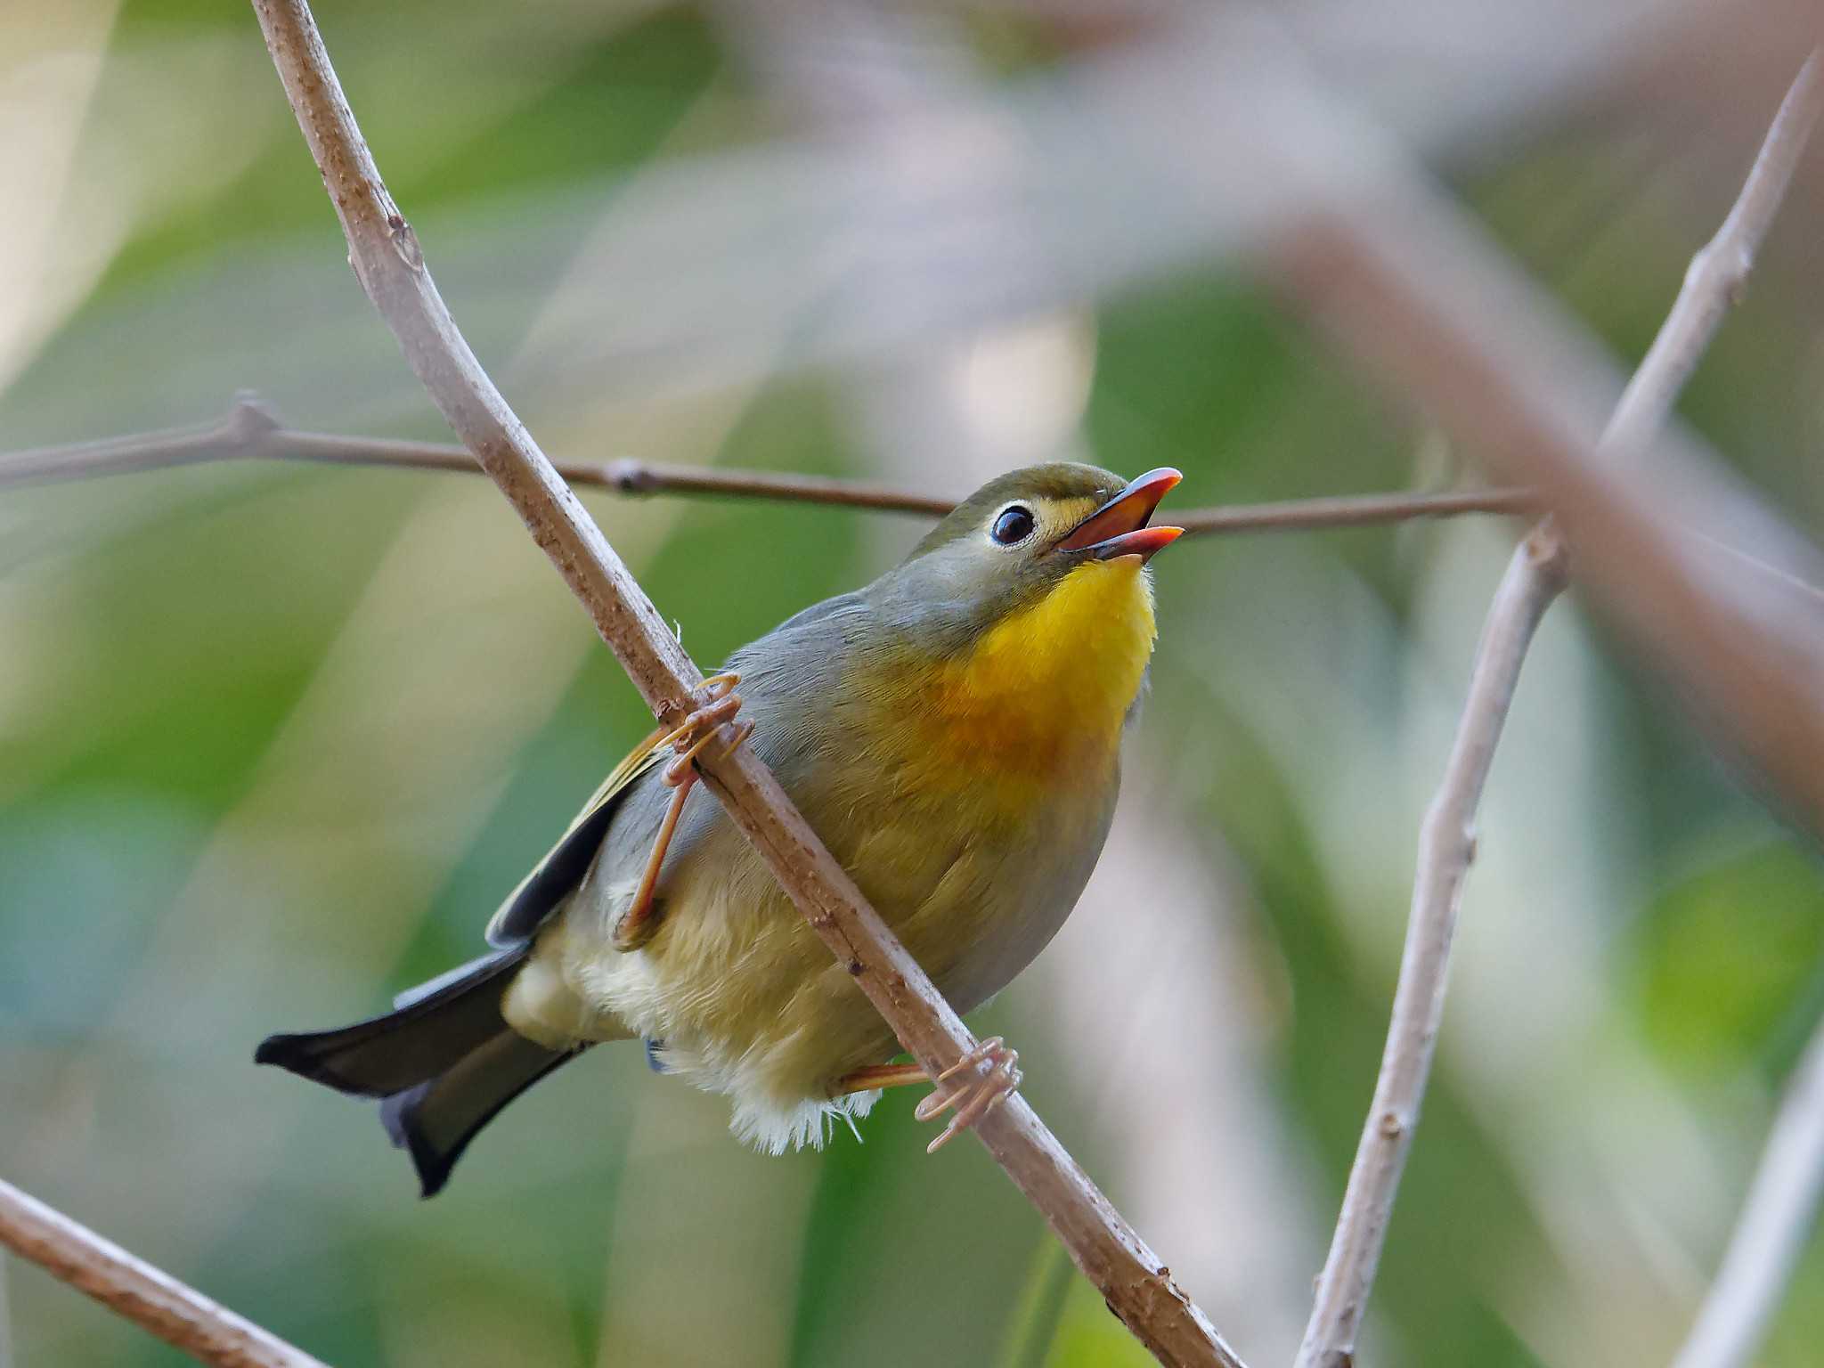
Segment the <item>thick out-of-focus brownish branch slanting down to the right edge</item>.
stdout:
<svg viewBox="0 0 1824 1368">
<path fill-rule="evenodd" d="M 1689 520 L 1746 540 L 1777 569 L 1802 565 L 1808 582 L 1819 580 L 1815 549 L 1678 434 L 1656 443 L 1665 471 L 1651 480 L 1634 461 L 1594 461 L 1583 432 L 1612 367 L 1428 184 L 1404 186 L 1384 217 L 1304 230 L 1282 264 L 1288 288 L 1364 367 L 1538 485 L 1580 584 L 1678 680 L 1720 744 L 1824 832 L 1824 620 L 1806 598 L 1693 554 L 1674 529 Z"/>
</svg>

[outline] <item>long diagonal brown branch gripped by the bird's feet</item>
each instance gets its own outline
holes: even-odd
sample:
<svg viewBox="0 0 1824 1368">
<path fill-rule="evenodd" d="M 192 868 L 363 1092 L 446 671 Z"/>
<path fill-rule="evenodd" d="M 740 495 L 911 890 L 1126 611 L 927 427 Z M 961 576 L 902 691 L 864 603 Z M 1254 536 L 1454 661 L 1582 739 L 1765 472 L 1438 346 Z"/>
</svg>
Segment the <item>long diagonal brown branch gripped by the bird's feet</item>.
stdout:
<svg viewBox="0 0 1824 1368">
<path fill-rule="evenodd" d="M 474 359 L 425 270 L 341 93 L 303 0 L 255 0 L 266 47 L 348 239 L 350 261 L 451 427 L 500 485 L 660 720 L 693 708 L 702 675 L 600 529 Z M 733 739 L 724 728 L 724 737 Z M 715 753 L 715 748 L 711 748 Z M 905 947 L 830 857 L 784 790 L 739 746 L 702 764 L 710 788 L 899 1042 L 938 1074 L 974 1045 Z M 1167 1364 L 1240 1368 L 1202 1311 L 1014 1094 L 976 1133 L 1045 1215 L 1109 1308 Z"/>
</svg>

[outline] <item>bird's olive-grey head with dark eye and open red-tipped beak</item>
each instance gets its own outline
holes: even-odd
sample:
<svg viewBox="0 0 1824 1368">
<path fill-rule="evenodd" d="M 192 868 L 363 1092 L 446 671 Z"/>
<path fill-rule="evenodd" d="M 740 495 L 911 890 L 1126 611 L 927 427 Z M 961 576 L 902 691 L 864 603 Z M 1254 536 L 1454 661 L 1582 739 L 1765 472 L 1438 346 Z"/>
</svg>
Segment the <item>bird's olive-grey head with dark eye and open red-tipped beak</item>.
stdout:
<svg viewBox="0 0 1824 1368">
<path fill-rule="evenodd" d="M 1032 607 L 1085 565 L 1145 564 L 1176 527 L 1147 527 L 1182 476 L 1122 480 L 1074 461 L 1009 471 L 956 505 L 912 553 L 870 586 L 877 609 L 934 651 L 965 648 Z"/>
</svg>

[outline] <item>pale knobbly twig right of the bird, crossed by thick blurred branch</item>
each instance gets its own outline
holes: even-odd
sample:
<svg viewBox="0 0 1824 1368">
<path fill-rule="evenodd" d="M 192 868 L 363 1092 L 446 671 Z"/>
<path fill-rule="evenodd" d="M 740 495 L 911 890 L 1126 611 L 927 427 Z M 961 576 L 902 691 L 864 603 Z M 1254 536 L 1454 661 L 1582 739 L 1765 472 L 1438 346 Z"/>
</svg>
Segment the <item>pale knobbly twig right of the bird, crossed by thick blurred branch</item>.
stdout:
<svg viewBox="0 0 1824 1368">
<path fill-rule="evenodd" d="M 1685 274 L 1671 314 L 1616 405 L 1598 456 L 1631 456 L 1663 425 L 1729 303 L 1740 295 L 1820 102 L 1824 82 L 1813 55 L 1780 106 L 1735 208 Z M 1445 383 L 1435 374 L 1432 379 Z M 1565 545 L 1556 523 L 1547 520 L 1516 551 L 1496 593 L 1445 779 L 1419 837 L 1412 914 L 1381 1074 L 1299 1348 L 1299 1368 L 1346 1368 L 1353 1359 L 1437 1043 L 1450 941 L 1476 854 L 1476 808 L 1527 646 L 1563 584 Z"/>
</svg>

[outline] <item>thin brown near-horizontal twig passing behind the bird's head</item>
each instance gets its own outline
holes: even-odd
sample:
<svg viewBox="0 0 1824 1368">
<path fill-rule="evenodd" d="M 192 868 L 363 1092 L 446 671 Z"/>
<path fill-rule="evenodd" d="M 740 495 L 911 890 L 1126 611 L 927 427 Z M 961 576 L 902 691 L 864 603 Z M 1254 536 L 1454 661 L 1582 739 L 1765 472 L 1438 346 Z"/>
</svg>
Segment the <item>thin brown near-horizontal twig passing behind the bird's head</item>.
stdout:
<svg viewBox="0 0 1824 1368">
<path fill-rule="evenodd" d="M 469 449 L 452 441 L 396 441 L 390 438 L 299 432 L 279 423 L 254 396 L 237 394 L 228 414 L 215 423 L 9 452 L 0 456 L 0 489 L 232 460 L 392 465 L 412 471 L 482 474 Z M 649 465 L 633 460 L 553 461 L 553 469 L 571 485 L 589 485 L 617 494 L 762 498 L 927 516 L 943 516 L 956 507 L 956 500 L 941 494 L 919 494 L 910 489 L 814 474 Z M 1538 507 L 1538 498 L 1525 489 L 1463 489 L 1441 494 L 1353 494 L 1279 503 L 1233 503 L 1187 509 L 1173 518 L 1193 534 L 1268 533 L 1375 527 L 1414 518 L 1454 518 L 1466 513 L 1536 513 Z"/>
</svg>

